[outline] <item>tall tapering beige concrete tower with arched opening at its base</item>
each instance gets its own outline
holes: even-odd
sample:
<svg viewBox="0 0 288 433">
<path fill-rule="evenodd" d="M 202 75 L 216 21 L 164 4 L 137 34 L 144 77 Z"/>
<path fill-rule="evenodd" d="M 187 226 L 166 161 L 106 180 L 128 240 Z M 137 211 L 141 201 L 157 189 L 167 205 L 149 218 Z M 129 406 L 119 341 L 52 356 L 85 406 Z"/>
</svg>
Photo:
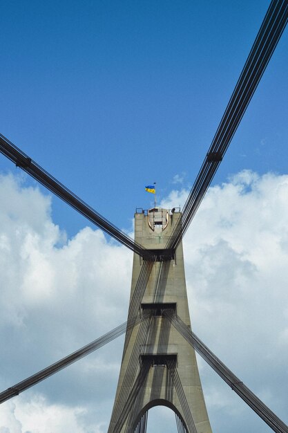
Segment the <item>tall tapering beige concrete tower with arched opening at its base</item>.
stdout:
<svg viewBox="0 0 288 433">
<path fill-rule="evenodd" d="M 163 259 L 181 213 L 164 209 L 135 214 L 135 241 L 157 254 L 134 255 L 128 327 L 108 433 L 146 431 L 148 409 L 170 407 L 179 432 L 211 433 L 194 349 L 166 313 L 190 324 L 182 243 Z"/>
</svg>

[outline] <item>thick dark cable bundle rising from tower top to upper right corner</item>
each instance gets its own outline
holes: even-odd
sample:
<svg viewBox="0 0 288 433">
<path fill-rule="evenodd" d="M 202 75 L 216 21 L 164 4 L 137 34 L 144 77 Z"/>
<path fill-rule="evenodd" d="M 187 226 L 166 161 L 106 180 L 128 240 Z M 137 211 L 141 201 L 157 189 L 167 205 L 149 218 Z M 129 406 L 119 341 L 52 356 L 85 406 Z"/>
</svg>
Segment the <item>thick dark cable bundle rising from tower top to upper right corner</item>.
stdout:
<svg viewBox="0 0 288 433">
<path fill-rule="evenodd" d="M 256 41 L 209 147 L 207 157 L 186 200 L 182 219 L 177 223 L 166 248 L 176 248 L 198 210 L 285 29 L 288 19 L 287 8 L 287 0 L 271 1 Z"/>
</svg>

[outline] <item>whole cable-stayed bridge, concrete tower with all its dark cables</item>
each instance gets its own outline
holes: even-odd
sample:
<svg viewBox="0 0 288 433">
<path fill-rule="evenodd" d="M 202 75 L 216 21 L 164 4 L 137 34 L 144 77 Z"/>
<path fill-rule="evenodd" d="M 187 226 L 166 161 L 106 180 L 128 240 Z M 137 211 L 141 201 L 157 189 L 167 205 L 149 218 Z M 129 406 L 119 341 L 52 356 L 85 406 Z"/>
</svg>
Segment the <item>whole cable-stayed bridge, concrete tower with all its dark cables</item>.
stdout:
<svg viewBox="0 0 288 433">
<path fill-rule="evenodd" d="M 181 212 L 162 208 L 136 212 L 135 239 L 68 190 L 8 138 L 0 136 L 0 151 L 12 163 L 134 253 L 127 322 L 11 385 L 0 393 L 0 403 L 126 333 L 108 433 L 146 432 L 148 410 L 155 405 L 166 405 L 175 412 L 178 432 L 211 432 L 195 351 L 271 430 L 288 432 L 287 425 L 191 330 L 182 252 L 182 239 L 222 163 L 287 19 L 288 2 L 272 0 L 184 208 Z"/>
</svg>

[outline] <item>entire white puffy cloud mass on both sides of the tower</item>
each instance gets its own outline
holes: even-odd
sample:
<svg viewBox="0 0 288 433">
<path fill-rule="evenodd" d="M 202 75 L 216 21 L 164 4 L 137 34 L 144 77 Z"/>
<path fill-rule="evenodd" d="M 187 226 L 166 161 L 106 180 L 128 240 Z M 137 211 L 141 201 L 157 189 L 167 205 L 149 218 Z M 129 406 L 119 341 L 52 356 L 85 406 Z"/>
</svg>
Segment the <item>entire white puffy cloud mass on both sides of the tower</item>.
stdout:
<svg viewBox="0 0 288 433">
<path fill-rule="evenodd" d="M 173 190 L 161 205 L 182 206 L 187 193 Z M 286 422 L 287 198 L 288 176 L 240 172 L 209 190 L 184 238 L 195 333 Z M 0 178 L 0 200 L 5 389 L 126 320 L 132 257 L 100 230 L 66 239 L 50 196 L 19 178 Z M 106 432 L 122 343 L 3 403 L 0 432 Z M 270 431 L 201 359 L 199 367 L 213 430 Z M 156 418 L 172 419 L 163 409 Z"/>
</svg>

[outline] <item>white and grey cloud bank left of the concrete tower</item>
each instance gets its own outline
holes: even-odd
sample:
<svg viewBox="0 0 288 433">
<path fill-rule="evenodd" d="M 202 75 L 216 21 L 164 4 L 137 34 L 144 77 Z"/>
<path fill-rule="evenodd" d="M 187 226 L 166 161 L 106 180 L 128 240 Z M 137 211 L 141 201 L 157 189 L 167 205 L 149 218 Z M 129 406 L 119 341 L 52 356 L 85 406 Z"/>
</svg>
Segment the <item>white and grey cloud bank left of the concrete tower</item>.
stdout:
<svg viewBox="0 0 288 433">
<path fill-rule="evenodd" d="M 1 350 L 0 384 L 5 389 L 126 320 L 132 254 L 107 241 L 100 230 L 84 228 L 66 240 L 66 234 L 51 220 L 50 197 L 37 188 L 25 187 L 19 178 L 0 178 L 0 201 L 0 328 L 1 347 L 5 347 Z M 80 416 L 77 401 L 81 400 L 86 405 L 82 419 L 88 423 L 93 412 L 97 419 L 97 412 L 102 410 L 104 424 L 107 423 L 121 342 L 114 344 L 112 355 L 110 351 L 102 350 L 98 358 L 91 355 L 79 361 L 79 367 L 73 365 L 47 384 L 37 385 L 46 394 L 47 412 L 57 412 L 59 404 L 60 412 L 66 411 L 64 419 L 69 418 L 72 423 Z M 97 383 L 94 390 L 92 380 Z M 89 406 L 91 394 L 94 398 L 97 395 L 97 402 L 108 400 L 106 414 L 101 401 L 95 409 Z M 18 400 L 21 402 L 21 398 L 14 400 L 16 408 L 21 405 Z M 57 404 L 51 403 L 55 401 Z M 33 403 L 31 410 L 35 409 L 36 418 L 43 405 L 39 398 Z M 5 421 L 0 417 L 1 428 L 18 432 L 15 423 L 22 422 L 25 411 L 12 411 L 9 403 L 3 403 L 2 411 L 3 407 L 10 415 Z M 13 420 L 11 425 L 9 419 Z M 101 425 L 99 417 L 99 428 Z M 42 427 L 19 428 L 21 432 L 46 431 Z"/>
</svg>

